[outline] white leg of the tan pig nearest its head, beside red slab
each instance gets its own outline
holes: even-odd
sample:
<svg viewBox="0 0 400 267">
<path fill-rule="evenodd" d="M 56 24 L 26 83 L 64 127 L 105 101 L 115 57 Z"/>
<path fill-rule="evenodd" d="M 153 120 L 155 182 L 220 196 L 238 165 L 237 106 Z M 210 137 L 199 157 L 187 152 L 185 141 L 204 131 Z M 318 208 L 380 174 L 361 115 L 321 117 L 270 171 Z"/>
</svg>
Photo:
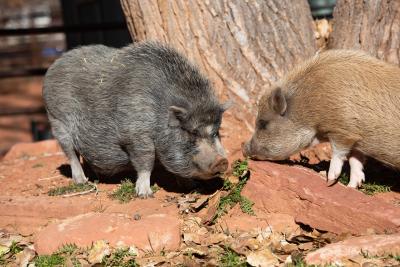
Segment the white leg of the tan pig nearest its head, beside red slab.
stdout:
<svg viewBox="0 0 400 267">
<path fill-rule="evenodd" d="M 331 186 L 336 183 L 337 179 L 342 172 L 343 163 L 346 160 L 347 154 L 350 152 L 350 149 L 346 146 L 339 145 L 332 139 L 330 139 L 331 147 L 332 147 L 332 158 L 329 164 L 328 171 L 328 186 Z"/>
</svg>

